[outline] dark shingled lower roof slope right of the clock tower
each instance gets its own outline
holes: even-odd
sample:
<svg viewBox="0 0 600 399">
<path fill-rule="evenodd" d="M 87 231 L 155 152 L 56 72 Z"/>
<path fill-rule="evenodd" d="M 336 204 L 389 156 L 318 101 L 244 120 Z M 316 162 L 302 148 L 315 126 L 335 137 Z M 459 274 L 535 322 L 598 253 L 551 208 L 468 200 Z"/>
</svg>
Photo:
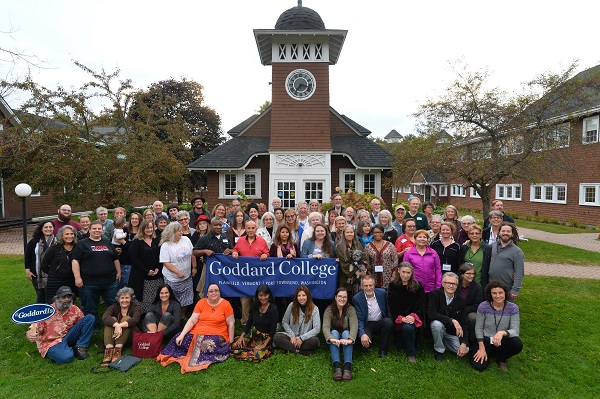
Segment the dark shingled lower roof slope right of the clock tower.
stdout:
<svg viewBox="0 0 600 399">
<path fill-rule="evenodd" d="M 347 155 L 360 168 L 392 168 L 392 154 L 385 148 L 360 136 L 331 136 L 333 154 Z"/>
</svg>

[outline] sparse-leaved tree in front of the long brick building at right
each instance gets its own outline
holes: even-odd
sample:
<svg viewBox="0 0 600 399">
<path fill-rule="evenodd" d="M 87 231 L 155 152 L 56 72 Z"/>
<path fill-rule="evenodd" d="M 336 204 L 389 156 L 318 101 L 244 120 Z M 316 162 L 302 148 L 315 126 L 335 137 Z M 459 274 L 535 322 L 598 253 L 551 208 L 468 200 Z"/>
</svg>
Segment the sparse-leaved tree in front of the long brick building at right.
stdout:
<svg viewBox="0 0 600 399">
<path fill-rule="evenodd" d="M 571 78 L 575 68 L 573 63 L 559 73 L 540 74 L 519 93 L 490 88 L 487 70 L 455 68 L 457 79 L 415 113 L 420 132 L 436 137 L 437 144 L 423 138 L 422 145 L 412 150 L 412 158 L 427 161 L 421 168 L 444 172 L 449 180 L 473 187 L 484 211 L 490 208 L 492 188 L 502 179 L 536 182 L 548 177 L 564 165 L 560 150 L 546 151 L 560 147 L 552 118 L 583 105 L 586 96 L 575 93 L 595 81 Z M 439 140 L 445 131 L 452 136 Z M 405 171 L 407 160 L 399 160 L 395 171 Z"/>
</svg>

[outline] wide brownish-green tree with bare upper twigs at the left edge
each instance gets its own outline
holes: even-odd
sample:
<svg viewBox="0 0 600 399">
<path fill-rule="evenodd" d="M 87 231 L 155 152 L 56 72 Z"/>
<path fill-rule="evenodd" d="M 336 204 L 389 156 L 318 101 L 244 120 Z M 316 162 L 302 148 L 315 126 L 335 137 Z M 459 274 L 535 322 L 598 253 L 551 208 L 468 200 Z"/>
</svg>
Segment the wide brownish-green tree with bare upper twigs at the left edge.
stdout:
<svg viewBox="0 0 600 399">
<path fill-rule="evenodd" d="M 29 99 L 19 112 L 22 123 L 0 138 L 2 174 L 74 205 L 97 205 L 96 193 L 105 204 L 122 205 L 184 187 L 194 126 L 180 117 L 164 122 L 150 107 L 137 107 L 131 117 L 142 95 L 131 80 L 119 79 L 119 70 L 75 64 L 91 77 L 78 89 L 49 89 L 31 78 L 13 84 Z"/>
</svg>

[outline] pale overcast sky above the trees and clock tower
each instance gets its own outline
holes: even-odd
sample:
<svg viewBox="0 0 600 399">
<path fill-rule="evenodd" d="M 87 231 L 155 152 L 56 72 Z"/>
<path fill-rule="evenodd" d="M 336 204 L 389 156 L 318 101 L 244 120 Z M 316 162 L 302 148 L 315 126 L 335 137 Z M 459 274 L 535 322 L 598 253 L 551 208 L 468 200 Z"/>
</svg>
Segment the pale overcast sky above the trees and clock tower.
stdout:
<svg viewBox="0 0 600 399">
<path fill-rule="evenodd" d="M 205 103 L 223 131 L 271 99 L 271 67 L 260 63 L 253 29 L 274 29 L 297 0 L 5 1 L 0 47 L 35 54 L 45 86 L 79 87 L 92 70 L 121 70 L 145 88 L 185 77 L 204 86 Z M 491 83 L 516 90 L 544 71 L 578 60 L 578 71 L 600 63 L 593 50 L 600 2 L 571 0 L 399 1 L 304 0 L 327 29 L 348 34 L 330 66 L 330 104 L 384 137 L 414 132 L 411 116 L 436 98 L 462 60 L 487 68 Z M 6 57 L 2 57 L 6 59 Z M 0 73 L 6 75 L 6 62 Z M 18 71 L 18 70 L 17 70 Z M 7 97 L 13 108 L 23 98 Z"/>
</svg>

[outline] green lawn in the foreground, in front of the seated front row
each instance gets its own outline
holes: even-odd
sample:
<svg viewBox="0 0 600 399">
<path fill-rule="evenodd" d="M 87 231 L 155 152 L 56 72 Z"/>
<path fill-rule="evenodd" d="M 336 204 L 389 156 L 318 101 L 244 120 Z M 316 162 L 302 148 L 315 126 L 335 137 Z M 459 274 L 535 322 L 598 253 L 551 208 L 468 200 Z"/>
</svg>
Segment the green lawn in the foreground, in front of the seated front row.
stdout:
<svg viewBox="0 0 600 399">
<path fill-rule="evenodd" d="M 10 315 L 30 303 L 34 291 L 25 279 L 22 258 L 0 256 L 2 335 L 0 395 L 10 398 L 90 398 L 106 396 L 147 398 L 592 398 L 600 396 L 600 281 L 526 276 L 521 307 L 524 350 L 509 361 L 510 371 L 494 365 L 484 373 L 472 370 L 466 359 L 446 355 L 432 358 L 431 343 L 419 349 L 417 364 L 391 349 L 386 359 L 374 350 L 355 349 L 354 380 L 331 378 L 329 353 L 321 347 L 312 357 L 275 353 L 260 364 L 233 359 L 208 370 L 181 375 L 179 367 L 163 368 L 153 360 L 127 373 L 91 374 L 102 355 L 56 366 L 41 359 L 24 337 L 26 327 L 12 324 Z M 594 333 L 589 333 L 594 332 Z M 93 342 L 98 342 L 96 333 Z M 126 349 L 130 353 L 131 349 Z M 10 377 L 9 377 L 10 376 Z M 594 382 L 596 381 L 596 382 Z M 501 389 L 501 394 L 495 394 Z"/>
</svg>

